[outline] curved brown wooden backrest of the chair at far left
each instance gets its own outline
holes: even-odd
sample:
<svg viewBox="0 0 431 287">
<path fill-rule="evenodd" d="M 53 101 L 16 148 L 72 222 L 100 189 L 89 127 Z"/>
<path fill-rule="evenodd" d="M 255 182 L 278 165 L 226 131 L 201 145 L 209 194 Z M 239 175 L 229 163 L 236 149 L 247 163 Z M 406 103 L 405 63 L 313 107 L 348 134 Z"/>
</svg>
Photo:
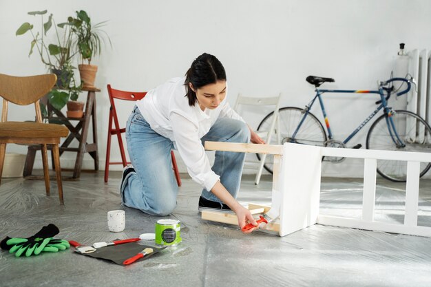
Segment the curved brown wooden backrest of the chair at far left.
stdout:
<svg viewBox="0 0 431 287">
<path fill-rule="evenodd" d="M 34 103 L 36 121 L 42 122 L 39 99 L 48 94 L 56 83 L 55 74 L 37 76 L 9 76 L 0 74 L 0 96 L 3 98 L 1 121 L 8 120 L 8 102 L 17 105 L 30 105 Z"/>
</svg>

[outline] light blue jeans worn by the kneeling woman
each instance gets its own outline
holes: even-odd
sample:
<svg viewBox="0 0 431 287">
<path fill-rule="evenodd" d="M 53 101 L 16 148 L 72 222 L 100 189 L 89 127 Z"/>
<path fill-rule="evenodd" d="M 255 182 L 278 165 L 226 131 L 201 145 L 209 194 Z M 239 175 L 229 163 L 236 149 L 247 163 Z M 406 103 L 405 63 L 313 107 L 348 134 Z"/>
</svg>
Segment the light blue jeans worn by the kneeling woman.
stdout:
<svg viewBox="0 0 431 287">
<path fill-rule="evenodd" d="M 140 209 L 151 215 L 168 215 L 176 208 L 178 186 L 172 170 L 169 138 L 157 134 L 135 107 L 126 125 L 127 150 L 135 172 L 127 175 L 120 187 L 125 206 Z M 245 123 L 219 118 L 201 138 L 222 142 L 249 142 L 250 131 Z M 240 189 L 245 153 L 216 151 L 212 170 L 220 182 L 236 198 Z M 211 191 L 203 190 L 202 197 L 221 202 Z"/>
</svg>

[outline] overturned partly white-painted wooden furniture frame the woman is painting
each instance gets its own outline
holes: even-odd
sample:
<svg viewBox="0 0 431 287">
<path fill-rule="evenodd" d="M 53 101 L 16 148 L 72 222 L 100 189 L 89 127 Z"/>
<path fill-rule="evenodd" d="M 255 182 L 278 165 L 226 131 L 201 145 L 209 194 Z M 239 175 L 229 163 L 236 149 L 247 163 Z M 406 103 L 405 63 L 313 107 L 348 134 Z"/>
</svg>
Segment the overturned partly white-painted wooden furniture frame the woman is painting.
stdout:
<svg viewBox="0 0 431 287">
<path fill-rule="evenodd" d="M 420 164 L 421 162 L 431 162 L 430 153 L 340 149 L 293 143 L 254 145 L 231 142 L 205 142 L 205 149 L 274 154 L 272 206 L 275 206 L 276 200 L 281 200 L 280 223 L 267 226 L 262 224 L 262 227 L 277 231 L 280 236 L 291 234 L 317 223 L 431 237 L 431 227 L 418 226 L 417 224 Z M 360 219 L 319 214 L 322 156 L 361 158 L 364 160 L 364 193 Z M 406 208 L 404 222 L 402 223 L 377 222 L 374 218 L 377 160 L 407 162 Z M 280 164 L 281 166 L 279 166 Z M 249 209 L 254 210 L 259 207 L 249 206 Z M 264 209 L 264 213 L 268 211 L 269 208 Z M 235 215 L 226 215 L 226 213 L 221 212 L 202 212 L 202 219 L 238 224 Z"/>
</svg>

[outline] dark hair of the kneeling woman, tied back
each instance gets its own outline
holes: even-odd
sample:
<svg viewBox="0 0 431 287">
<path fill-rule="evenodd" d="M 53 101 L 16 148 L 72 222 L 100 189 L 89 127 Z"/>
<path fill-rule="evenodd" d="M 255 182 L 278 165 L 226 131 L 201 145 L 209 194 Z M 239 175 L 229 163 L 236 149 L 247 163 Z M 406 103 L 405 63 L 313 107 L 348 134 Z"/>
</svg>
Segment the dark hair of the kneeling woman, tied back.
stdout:
<svg viewBox="0 0 431 287">
<path fill-rule="evenodd" d="M 214 84 L 217 81 L 226 81 L 226 72 L 220 61 L 215 56 L 204 53 L 196 58 L 191 63 L 190 69 L 186 73 L 186 81 L 184 85 L 187 89 L 187 98 L 189 98 L 189 105 L 193 106 L 196 103 L 196 93 L 189 87 L 189 83 L 195 89 L 199 89 L 204 85 Z"/>
</svg>

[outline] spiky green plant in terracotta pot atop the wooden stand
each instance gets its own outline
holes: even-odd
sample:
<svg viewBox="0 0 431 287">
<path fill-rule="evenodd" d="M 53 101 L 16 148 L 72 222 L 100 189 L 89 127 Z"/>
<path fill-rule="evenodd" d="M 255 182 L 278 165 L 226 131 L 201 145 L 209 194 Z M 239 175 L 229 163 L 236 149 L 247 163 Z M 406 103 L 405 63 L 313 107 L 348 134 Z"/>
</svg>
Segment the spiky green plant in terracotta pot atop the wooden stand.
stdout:
<svg viewBox="0 0 431 287">
<path fill-rule="evenodd" d="M 92 89 L 98 69 L 97 65 L 91 65 L 92 58 L 101 54 L 105 37 L 111 45 L 109 36 L 100 29 L 105 22 L 92 25 L 90 17 L 84 10 L 76 11 L 76 18 L 69 17 L 68 21 L 71 24 L 72 32 L 76 35 L 74 47 L 82 59 L 82 63 L 78 65 L 81 83 L 83 83 L 83 88 Z M 87 64 L 84 64 L 85 61 Z"/>
</svg>

